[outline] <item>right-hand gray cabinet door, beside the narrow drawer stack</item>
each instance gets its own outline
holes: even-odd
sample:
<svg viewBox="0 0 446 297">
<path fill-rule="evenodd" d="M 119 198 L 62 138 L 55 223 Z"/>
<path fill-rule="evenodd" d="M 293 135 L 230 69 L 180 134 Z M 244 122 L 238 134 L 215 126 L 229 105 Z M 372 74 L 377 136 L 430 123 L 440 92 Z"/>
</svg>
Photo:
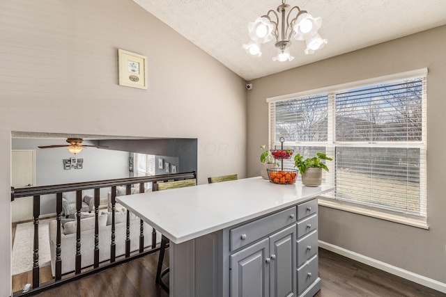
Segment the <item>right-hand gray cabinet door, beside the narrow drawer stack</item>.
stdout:
<svg viewBox="0 0 446 297">
<path fill-rule="evenodd" d="M 291 297 L 296 294 L 296 227 L 270 236 L 270 296 Z"/>
</svg>

